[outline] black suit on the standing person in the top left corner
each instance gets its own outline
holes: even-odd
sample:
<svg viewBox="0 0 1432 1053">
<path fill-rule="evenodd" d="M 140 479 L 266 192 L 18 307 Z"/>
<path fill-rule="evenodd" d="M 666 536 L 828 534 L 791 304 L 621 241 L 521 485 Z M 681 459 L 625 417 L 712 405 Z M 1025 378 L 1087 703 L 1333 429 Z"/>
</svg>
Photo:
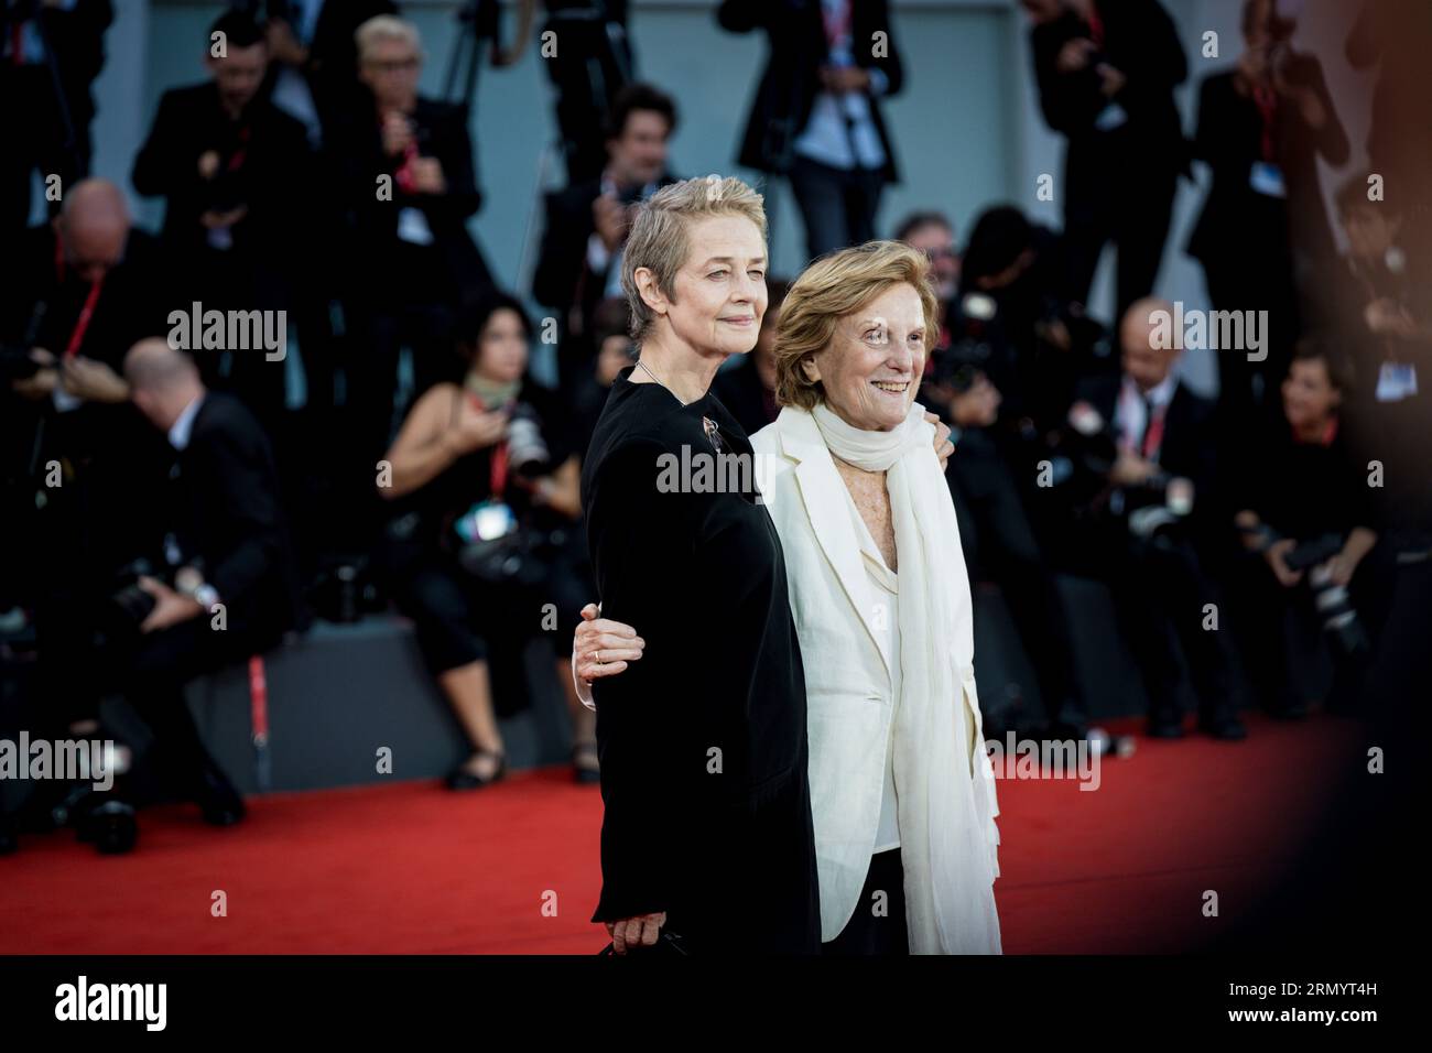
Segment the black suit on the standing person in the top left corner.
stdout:
<svg viewBox="0 0 1432 1053">
<path fill-rule="evenodd" d="M 43 40 L 49 47 L 59 73 L 60 96 L 54 93 L 54 76 L 43 50 L 36 54 L 26 50 L 21 62 L 16 62 L 11 52 L 14 23 L 0 16 L 0 99 L 6 116 L 6 143 L 0 150 L 0 231 L 7 235 L 19 234 L 30 221 L 30 176 L 36 168 L 43 176 L 59 175 L 63 191 L 89 175 L 89 126 L 95 117 L 90 85 L 105 66 L 105 30 L 115 20 L 109 0 L 77 0 L 69 10 L 42 7 L 39 1 L 34 7 L 39 20 L 27 19 L 21 32 L 26 40 Z M 52 202 L 52 208 L 57 208 L 57 202 Z"/>
</svg>

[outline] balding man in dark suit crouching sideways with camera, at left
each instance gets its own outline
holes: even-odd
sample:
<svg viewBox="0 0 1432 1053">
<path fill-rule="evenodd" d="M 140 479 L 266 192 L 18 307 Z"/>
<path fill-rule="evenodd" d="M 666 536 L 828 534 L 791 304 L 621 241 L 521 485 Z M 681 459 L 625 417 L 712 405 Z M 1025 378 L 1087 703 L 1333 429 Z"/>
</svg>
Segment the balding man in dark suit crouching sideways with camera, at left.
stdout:
<svg viewBox="0 0 1432 1053">
<path fill-rule="evenodd" d="M 143 761 L 206 822 L 228 827 L 243 818 L 243 799 L 200 741 L 185 685 L 274 646 L 299 620 L 274 456 L 242 403 L 209 393 L 193 360 L 163 340 L 139 341 L 123 370 L 175 468 L 152 557 L 90 582 L 76 612 L 64 701 L 123 693 L 153 735 Z M 80 835 L 102 852 L 132 850 L 133 799 L 122 784 L 80 801 Z"/>
</svg>

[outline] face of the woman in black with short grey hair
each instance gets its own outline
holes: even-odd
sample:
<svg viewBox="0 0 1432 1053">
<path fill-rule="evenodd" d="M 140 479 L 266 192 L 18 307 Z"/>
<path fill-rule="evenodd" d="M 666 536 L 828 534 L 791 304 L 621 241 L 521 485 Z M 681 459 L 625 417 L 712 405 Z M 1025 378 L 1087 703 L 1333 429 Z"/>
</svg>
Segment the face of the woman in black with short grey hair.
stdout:
<svg viewBox="0 0 1432 1053">
<path fill-rule="evenodd" d="M 756 345 L 766 314 L 766 244 L 740 215 L 692 222 L 690 252 L 666 301 L 673 335 L 703 352 L 743 355 Z"/>
</svg>

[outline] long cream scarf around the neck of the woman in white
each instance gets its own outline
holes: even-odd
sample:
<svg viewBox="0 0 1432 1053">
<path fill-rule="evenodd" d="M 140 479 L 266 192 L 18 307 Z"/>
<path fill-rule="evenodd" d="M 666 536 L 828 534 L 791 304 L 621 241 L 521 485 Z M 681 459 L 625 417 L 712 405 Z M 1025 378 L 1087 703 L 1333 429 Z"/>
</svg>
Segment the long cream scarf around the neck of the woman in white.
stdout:
<svg viewBox="0 0 1432 1053">
<path fill-rule="evenodd" d="M 825 404 L 813 410 L 826 447 L 866 471 L 884 471 L 899 553 L 901 698 L 896 699 L 895 792 L 905 918 L 915 954 L 1000 954 L 991 834 L 971 775 L 969 713 L 955 663 L 955 605 L 969 583 L 934 428 L 918 403 L 892 431 L 863 431 Z M 984 744 L 977 764 L 988 765 Z M 977 768 L 978 769 L 978 768 Z"/>
</svg>

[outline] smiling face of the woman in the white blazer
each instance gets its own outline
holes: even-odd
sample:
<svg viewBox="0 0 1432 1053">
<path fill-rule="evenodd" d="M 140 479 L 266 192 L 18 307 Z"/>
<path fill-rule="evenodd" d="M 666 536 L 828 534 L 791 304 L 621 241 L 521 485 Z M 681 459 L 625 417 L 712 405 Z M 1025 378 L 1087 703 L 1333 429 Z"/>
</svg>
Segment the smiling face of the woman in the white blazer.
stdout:
<svg viewBox="0 0 1432 1053">
<path fill-rule="evenodd" d="M 805 370 L 821 381 L 826 405 L 846 424 L 889 431 L 915 401 L 927 344 L 919 292 L 901 282 L 841 318 L 831 344 Z"/>
</svg>

